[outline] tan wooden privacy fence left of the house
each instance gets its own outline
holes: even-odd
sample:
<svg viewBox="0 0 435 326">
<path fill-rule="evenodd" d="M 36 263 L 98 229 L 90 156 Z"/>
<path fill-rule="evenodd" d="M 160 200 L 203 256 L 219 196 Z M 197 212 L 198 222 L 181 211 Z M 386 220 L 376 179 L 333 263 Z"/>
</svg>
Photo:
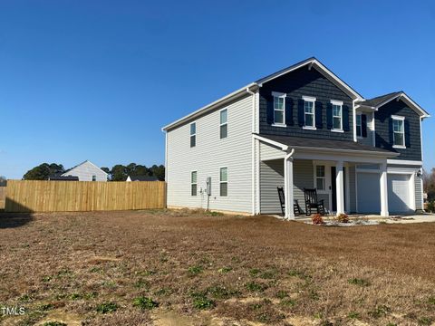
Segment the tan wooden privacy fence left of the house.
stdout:
<svg viewBox="0 0 435 326">
<path fill-rule="evenodd" d="M 5 212 L 82 212 L 166 207 L 163 181 L 8 180 Z"/>
</svg>

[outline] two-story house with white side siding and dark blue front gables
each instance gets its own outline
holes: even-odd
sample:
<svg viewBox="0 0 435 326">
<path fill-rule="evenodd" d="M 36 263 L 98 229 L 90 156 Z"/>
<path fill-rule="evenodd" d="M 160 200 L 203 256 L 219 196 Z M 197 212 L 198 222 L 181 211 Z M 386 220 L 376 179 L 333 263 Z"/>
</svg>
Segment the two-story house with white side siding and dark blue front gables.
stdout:
<svg viewBox="0 0 435 326">
<path fill-rule="evenodd" d="M 166 131 L 169 207 L 285 216 L 304 188 L 337 214 L 422 209 L 421 120 L 403 91 L 364 99 L 315 58 L 176 120 Z"/>
</svg>

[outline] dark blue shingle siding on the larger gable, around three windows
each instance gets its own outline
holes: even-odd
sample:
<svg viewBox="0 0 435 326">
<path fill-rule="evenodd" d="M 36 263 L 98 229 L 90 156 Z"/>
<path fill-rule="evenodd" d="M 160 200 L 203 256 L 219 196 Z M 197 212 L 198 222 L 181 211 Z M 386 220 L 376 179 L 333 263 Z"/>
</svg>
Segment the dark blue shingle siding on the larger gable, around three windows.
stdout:
<svg viewBox="0 0 435 326">
<path fill-rule="evenodd" d="M 273 126 L 272 91 L 286 93 L 285 128 Z M 303 129 L 303 96 L 316 98 L 314 116 L 316 130 Z M 331 100 L 343 101 L 344 132 L 331 131 Z M 308 70 L 304 66 L 295 72 L 286 73 L 275 80 L 266 82 L 260 88 L 259 107 L 259 129 L 261 134 L 353 141 L 352 99 L 314 68 Z"/>
</svg>

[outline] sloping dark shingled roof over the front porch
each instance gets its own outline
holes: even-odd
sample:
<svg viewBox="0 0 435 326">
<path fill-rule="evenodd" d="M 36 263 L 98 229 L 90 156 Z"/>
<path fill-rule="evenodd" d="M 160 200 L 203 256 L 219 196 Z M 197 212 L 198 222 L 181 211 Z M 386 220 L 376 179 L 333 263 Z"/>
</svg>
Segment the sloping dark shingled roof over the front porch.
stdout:
<svg viewBox="0 0 435 326">
<path fill-rule="evenodd" d="M 330 151 L 347 151 L 356 153 L 366 153 L 371 155 L 380 155 L 385 158 L 394 158 L 398 153 L 386 149 L 379 149 L 368 145 L 362 145 L 354 141 L 332 140 L 332 139 L 312 139 L 294 136 L 274 136 L 258 135 L 262 139 L 268 139 L 288 147 L 289 149 L 311 149 L 311 150 L 330 150 Z"/>
</svg>

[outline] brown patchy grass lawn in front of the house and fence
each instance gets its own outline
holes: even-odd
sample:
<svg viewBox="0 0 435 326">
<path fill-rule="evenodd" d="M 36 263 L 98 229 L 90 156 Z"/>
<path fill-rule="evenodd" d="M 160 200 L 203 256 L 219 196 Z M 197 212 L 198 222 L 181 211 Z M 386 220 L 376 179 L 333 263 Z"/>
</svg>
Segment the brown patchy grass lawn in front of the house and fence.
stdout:
<svg viewBox="0 0 435 326">
<path fill-rule="evenodd" d="M 4 215 L 0 248 L 0 305 L 25 308 L 0 317 L 5 325 L 435 321 L 435 224 L 338 228 L 189 211 Z"/>
</svg>

